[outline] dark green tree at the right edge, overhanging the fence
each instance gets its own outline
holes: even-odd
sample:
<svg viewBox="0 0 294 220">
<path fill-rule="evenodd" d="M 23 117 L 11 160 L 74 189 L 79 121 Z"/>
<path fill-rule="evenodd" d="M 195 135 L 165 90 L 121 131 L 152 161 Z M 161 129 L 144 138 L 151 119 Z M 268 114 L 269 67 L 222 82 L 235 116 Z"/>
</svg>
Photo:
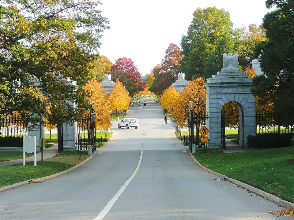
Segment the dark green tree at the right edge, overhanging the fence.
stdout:
<svg viewBox="0 0 294 220">
<path fill-rule="evenodd" d="M 294 124 L 294 2 L 268 0 L 266 6 L 276 9 L 263 17 L 268 40 L 255 50 L 266 77 L 254 78 L 252 93 L 262 104 L 271 102 L 276 121 L 288 126 Z"/>
</svg>

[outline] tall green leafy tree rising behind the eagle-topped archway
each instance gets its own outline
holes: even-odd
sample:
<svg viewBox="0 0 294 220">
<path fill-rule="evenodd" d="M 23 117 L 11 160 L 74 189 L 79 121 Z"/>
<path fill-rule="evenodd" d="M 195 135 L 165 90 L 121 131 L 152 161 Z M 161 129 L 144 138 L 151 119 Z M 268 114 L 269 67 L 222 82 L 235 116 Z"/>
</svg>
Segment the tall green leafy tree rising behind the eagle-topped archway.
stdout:
<svg viewBox="0 0 294 220">
<path fill-rule="evenodd" d="M 186 79 L 210 78 L 222 69 L 222 54 L 232 53 L 232 22 L 224 9 L 198 8 L 193 13 L 187 35 L 182 38 L 181 72 Z"/>
</svg>

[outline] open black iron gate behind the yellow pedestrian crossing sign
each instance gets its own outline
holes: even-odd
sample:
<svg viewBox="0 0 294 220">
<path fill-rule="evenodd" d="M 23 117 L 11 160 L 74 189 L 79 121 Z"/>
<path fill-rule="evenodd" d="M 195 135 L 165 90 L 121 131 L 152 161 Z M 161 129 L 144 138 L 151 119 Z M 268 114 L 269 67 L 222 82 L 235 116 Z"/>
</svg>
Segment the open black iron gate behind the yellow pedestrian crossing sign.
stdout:
<svg viewBox="0 0 294 220">
<path fill-rule="evenodd" d="M 193 112 L 193 113 L 192 113 Z M 202 135 L 199 134 L 199 130 L 202 126 L 208 127 L 208 118 L 206 111 L 201 112 L 189 112 L 188 130 L 189 130 L 189 149 L 192 151 L 192 144 L 196 144 L 196 148 L 205 148 L 205 143 L 201 143 Z M 208 136 L 206 136 L 208 138 Z"/>
</svg>

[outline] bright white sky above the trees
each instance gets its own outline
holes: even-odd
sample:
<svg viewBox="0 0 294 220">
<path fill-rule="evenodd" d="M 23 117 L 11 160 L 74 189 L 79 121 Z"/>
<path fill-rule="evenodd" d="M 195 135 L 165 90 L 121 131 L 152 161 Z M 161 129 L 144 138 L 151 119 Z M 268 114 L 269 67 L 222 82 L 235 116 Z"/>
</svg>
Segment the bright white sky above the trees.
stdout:
<svg viewBox="0 0 294 220">
<path fill-rule="evenodd" d="M 120 57 L 134 61 L 142 75 L 160 64 L 169 43 L 179 47 L 198 7 L 216 6 L 229 12 L 234 28 L 260 25 L 270 10 L 265 0 L 100 0 L 110 22 L 103 32 L 100 55 L 112 63 Z"/>
</svg>

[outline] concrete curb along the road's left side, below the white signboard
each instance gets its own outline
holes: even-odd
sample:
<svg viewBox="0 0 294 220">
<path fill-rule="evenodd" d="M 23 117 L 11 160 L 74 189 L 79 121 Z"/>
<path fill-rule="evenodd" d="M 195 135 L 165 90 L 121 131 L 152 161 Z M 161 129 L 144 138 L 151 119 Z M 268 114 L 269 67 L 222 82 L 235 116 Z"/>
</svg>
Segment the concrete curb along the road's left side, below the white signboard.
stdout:
<svg viewBox="0 0 294 220">
<path fill-rule="evenodd" d="M 32 181 L 34 181 L 34 182 L 39 182 L 39 181 L 46 180 L 46 179 L 50 179 L 50 178 L 53 178 L 53 177 L 57 177 L 57 176 L 60 176 L 60 175 L 62 175 L 62 174 L 65 174 L 65 173 L 67 173 L 67 172 L 69 172 L 69 171 L 72 171 L 72 170 L 74 170 L 75 168 L 80 167 L 80 166 L 83 165 L 84 163 L 88 162 L 93 156 L 95 156 L 95 155 L 97 154 L 97 152 L 98 152 L 98 151 L 96 150 L 96 151 L 93 153 L 92 156 L 89 156 L 86 160 L 84 160 L 84 161 L 82 161 L 81 163 L 75 165 L 74 167 L 71 167 L 71 168 L 69 168 L 69 169 L 67 169 L 67 170 L 65 170 L 65 171 L 61 171 L 61 172 L 56 173 L 56 174 L 52 174 L 52 175 L 50 175 L 50 176 L 45 176 L 45 177 L 41 177 L 41 178 L 37 178 L 37 179 L 33 179 Z M 18 186 L 22 186 L 22 185 L 26 185 L 26 184 L 29 184 L 29 183 L 28 183 L 28 180 L 23 181 L 23 182 L 19 182 L 19 183 L 14 183 L 14 184 L 12 184 L 12 185 L 3 186 L 3 187 L 0 188 L 0 192 L 5 191 L 5 190 L 8 190 L 8 189 L 13 189 L 13 188 L 16 188 L 16 187 L 18 187 Z"/>
</svg>

